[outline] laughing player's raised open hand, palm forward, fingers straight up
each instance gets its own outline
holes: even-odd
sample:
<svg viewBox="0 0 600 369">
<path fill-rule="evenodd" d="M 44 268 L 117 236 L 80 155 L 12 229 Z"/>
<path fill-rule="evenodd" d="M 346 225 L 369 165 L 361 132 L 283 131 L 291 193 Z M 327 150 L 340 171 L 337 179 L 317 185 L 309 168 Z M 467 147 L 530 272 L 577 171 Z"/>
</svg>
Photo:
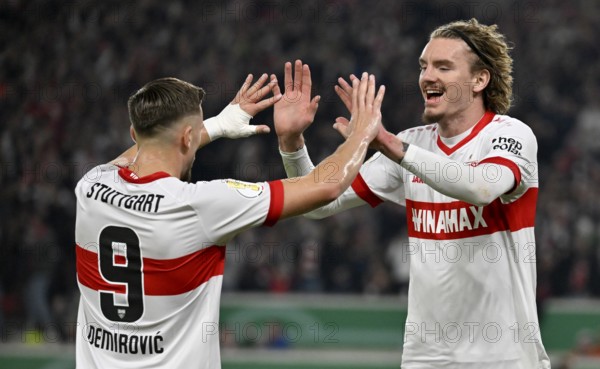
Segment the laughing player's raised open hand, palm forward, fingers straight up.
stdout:
<svg viewBox="0 0 600 369">
<path fill-rule="evenodd" d="M 283 82 L 283 98 L 275 104 L 273 112 L 275 132 L 283 151 L 296 151 L 304 145 L 302 132 L 312 124 L 321 97 L 311 98 L 310 68 L 301 60 L 294 63 L 293 77 L 292 63 L 285 63 Z M 279 86 L 273 93 L 281 93 Z"/>
</svg>

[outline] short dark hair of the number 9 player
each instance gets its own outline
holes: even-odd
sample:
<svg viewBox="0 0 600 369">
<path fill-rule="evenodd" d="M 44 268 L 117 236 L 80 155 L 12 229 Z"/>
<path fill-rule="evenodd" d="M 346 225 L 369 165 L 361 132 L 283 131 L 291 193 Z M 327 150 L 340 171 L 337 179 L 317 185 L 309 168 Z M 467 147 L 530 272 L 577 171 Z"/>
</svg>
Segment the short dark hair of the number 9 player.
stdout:
<svg viewBox="0 0 600 369">
<path fill-rule="evenodd" d="M 199 114 L 204 90 L 177 78 L 147 83 L 127 101 L 129 120 L 136 134 L 152 137 L 188 115 Z"/>
</svg>

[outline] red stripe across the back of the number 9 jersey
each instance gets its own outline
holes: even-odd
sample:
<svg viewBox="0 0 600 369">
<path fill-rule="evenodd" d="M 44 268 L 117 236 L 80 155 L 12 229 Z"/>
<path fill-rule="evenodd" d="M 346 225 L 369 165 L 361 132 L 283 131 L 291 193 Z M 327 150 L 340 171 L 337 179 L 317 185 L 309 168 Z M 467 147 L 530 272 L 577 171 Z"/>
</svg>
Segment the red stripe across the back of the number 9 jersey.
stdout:
<svg viewBox="0 0 600 369">
<path fill-rule="evenodd" d="M 125 293 L 125 285 L 111 283 L 100 275 L 98 254 L 76 247 L 77 278 L 82 285 L 96 291 Z M 175 259 L 143 258 L 144 294 L 179 295 L 196 289 L 210 278 L 223 275 L 225 247 L 210 246 Z"/>
</svg>

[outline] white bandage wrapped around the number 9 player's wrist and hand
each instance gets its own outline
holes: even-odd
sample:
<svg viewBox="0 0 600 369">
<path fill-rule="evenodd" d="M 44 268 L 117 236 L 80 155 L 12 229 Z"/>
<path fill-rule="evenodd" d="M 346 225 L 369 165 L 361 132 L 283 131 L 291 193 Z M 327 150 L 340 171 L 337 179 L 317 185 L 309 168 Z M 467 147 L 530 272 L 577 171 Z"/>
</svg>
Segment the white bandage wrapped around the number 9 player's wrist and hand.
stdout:
<svg viewBox="0 0 600 369">
<path fill-rule="evenodd" d="M 250 119 L 252 116 L 240 104 L 229 104 L 216 117 L 206 119 L 204 128 L 211 141 L 221 137 L 248 137 L 256 133 L 256 126 L 250 125 Z"/>
</svg>

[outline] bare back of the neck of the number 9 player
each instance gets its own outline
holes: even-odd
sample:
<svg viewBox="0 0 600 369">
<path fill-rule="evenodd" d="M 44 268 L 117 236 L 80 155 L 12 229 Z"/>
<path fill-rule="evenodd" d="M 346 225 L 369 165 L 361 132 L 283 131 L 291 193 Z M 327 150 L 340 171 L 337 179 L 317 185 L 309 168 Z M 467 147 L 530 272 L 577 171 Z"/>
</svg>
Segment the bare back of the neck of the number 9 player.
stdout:
<svg viewBox="0 0 600 369">
<path fill-rule="evenodd" d="M 173 177 L 181 178 L 182 168 L 183 163 L 174 150 L 151 143 L 138 144 L 137 155 L 129 166 L 129 170 L 139 177 L 166 172 Z"/>
</svg>

